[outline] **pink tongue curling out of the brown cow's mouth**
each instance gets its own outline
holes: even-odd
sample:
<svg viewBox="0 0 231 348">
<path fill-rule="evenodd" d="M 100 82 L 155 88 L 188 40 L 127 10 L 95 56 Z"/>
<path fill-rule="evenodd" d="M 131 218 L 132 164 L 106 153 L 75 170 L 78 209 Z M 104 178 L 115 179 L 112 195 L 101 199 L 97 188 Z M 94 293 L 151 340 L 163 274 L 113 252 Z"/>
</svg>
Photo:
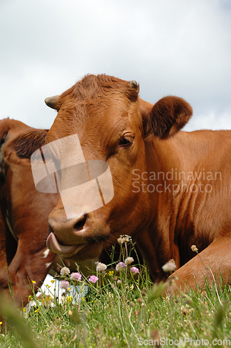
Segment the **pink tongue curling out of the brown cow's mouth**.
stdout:
<svg viewBox="0 0 231 348">
<path fill-rule="evenodd" d="M 70 258 L 72 255 L 76 254 L 85 244 L 75 244 L 75 245 L 62 245 L 58 243 L 54 232 L 51 232 L 47 237 L 47 248 L 53 253 L 61 254 L 65 258 Z"/>
</svg>

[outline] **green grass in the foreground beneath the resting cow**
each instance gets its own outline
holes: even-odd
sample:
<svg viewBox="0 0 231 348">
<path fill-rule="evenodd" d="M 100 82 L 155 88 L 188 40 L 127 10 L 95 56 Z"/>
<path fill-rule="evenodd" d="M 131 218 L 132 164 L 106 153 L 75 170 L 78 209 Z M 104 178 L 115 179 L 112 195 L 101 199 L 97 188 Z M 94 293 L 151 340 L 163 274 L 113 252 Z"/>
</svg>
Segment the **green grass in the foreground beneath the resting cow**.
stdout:
<svg viewBox="0 0 231 348">
<path fill-rule="evenodd" d="M 127 258 L 125 246 L 121 260 Z M 160 347 L 230 347 L 230 286 L 162 298 L 164 285 L 153 286 L 146 267 L 137 267 L 136 275 L 131 265 L 114 274 L 98 271 L 95 284 L 63 276 L 81 300 L 72 301 L 70 287 L 54 306 L 44 306 L 47 296 L 43 303 L 33 296 L 37 306 L 26 318 L 24 310 L 1 301 L 10 329 L 0 335 L 0 347 L 150 347 L 157 341 Z"/>
</svg>

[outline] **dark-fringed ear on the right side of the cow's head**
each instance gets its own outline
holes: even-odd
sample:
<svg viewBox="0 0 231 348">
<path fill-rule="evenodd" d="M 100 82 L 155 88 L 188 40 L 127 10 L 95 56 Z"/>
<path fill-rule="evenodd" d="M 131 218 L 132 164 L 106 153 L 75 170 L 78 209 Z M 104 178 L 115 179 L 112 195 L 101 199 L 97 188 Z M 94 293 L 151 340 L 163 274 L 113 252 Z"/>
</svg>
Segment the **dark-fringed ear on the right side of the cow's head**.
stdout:
<svg viewBox="0 0 231 348">
<path fill-rule="evenodd" d="M 177 133 L 191 118 L 191 105 L 180 97 L 164 97 L 156 104 L 140 101 L 145 139 L 151 135 L 164 139 Z"/>
</svg>

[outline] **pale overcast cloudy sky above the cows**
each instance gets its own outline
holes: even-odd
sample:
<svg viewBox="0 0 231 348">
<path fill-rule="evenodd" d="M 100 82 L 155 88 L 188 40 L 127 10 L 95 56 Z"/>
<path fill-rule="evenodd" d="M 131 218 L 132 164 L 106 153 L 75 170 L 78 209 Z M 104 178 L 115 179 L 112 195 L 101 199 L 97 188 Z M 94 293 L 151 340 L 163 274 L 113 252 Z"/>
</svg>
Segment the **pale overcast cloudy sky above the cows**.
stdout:
<svg viewBox="0 0 231 348">
<path fill-rule="evenodd" d="M 231 129 L 230 0 L 0 0 L 0 119 L 49 128 L 45 97 L 85 74 L 187 100 L 185 127 Z"/>
</svg>

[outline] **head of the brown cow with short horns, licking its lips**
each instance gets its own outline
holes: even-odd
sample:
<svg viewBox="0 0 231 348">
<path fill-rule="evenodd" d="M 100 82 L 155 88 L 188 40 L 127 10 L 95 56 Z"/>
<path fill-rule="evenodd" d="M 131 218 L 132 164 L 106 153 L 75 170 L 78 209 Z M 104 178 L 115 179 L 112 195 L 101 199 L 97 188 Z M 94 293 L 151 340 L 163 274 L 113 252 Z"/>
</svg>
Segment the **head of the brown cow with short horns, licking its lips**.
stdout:
<svg viewBox="0 0 231 348">
<path fill-rule="evenodd" d="M 69 216 L 60 198 L 49 215 L 47 246 L 52 251 L 76 260 L 95 258 L 120 235 L 135 239 L 157 213 L 157 193 L 137 193 L 132 185 L 134 169 L 157 169 L 154 139 L 174 136 L 188 122 L 192 109 L 179 97 L 164 97 L 153 105 L 141 100 L 138 91 L 136 81 L 88 75 L 62 95 L 47 98 L 47 105 L 58 111 L 47 143 L 77 134 L 85 161 L 109 164 L 114 189 L 109 203 L 89 212 L 86 205 L 79 205 L 88 196 L 87 189 L 79 197 L 73 188 Z M 58 151 L 72 157 L 70 163 L 77 156 L 74 143 Z"/>
</svg>

